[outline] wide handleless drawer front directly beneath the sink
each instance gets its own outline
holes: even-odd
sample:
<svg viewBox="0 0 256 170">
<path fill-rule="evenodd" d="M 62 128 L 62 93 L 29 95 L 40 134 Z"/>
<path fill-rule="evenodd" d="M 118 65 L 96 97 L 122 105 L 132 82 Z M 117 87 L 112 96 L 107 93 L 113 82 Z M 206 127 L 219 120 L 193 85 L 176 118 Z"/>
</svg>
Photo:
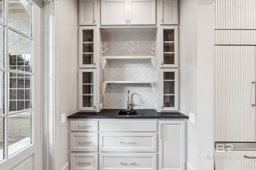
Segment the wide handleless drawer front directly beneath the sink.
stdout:
<svg viewBox="0 0 256 170">
<path fill-rule="evenodd" d="M 99 121 L 100 131 L 156 131 L 156 121 Z"/>
</svg>

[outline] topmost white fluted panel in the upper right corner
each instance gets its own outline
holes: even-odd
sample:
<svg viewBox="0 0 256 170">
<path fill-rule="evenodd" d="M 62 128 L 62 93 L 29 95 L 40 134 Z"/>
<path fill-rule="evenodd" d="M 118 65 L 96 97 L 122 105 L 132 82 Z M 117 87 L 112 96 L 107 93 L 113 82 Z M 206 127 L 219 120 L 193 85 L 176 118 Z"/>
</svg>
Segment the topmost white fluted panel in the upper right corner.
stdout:
<svg viewBox="0 0 256 170">
<path fill-rule="evenodd" d="M 215 29 L 256 29 L 256 0 L 215 0 Z"/>
</svg>

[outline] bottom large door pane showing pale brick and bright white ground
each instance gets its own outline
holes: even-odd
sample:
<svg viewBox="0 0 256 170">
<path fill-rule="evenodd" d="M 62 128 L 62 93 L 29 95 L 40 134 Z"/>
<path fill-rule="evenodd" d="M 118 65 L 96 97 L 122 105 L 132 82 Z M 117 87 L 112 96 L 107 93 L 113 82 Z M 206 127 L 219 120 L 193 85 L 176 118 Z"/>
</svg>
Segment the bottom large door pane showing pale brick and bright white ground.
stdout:
<svg viewBox="0 0 256 170">
<path fill-rule="evenodd" d="M 31 144 L 31 112 L 8 117 L 8 155 Z"/>
</svg>

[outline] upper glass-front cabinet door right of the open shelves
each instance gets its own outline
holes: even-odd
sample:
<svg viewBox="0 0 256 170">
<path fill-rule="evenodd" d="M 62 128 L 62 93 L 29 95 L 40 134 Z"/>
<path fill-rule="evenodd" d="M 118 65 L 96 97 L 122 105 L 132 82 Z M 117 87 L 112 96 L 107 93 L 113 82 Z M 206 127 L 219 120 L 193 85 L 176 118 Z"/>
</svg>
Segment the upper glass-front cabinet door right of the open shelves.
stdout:
<svg viewBox="0 0 256 170">
<path fill-rule="evenodd" d="M 160 64 L 163 68 L 178 68 L 178 26 L 162 26 Z"/>
</svg>

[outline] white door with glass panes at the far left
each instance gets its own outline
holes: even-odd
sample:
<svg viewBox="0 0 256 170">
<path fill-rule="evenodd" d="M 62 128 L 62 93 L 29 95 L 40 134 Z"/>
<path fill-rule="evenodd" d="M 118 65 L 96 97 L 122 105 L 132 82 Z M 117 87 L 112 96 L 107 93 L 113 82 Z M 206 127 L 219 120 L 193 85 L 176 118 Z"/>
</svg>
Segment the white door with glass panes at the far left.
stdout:
<svg viewBox="0 0 256 170">
<path fill-rule="evenodd" d="M 41 6 L 27 0 L 0 0 L 0 169 L 41 169 Z"/>
</svg>

